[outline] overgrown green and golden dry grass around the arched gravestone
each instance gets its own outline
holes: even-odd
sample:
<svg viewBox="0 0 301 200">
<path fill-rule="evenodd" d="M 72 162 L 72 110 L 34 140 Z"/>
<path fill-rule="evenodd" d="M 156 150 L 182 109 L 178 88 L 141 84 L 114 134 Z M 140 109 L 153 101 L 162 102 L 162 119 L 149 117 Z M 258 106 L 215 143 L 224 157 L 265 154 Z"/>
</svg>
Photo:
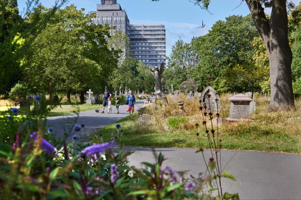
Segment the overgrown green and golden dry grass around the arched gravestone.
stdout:
<svg viewBox="0 0 301 200">
<path fill-rule="evenodd" d="M 231 94 L 222 94 L 221 115 L 229 116 Z M 257 97 L 256 113 L 251 117 L 256 121 L 238 121 L 224 123 L 219 127 L 219 138 L 222 140 L 222 149 L 231 150 L 257 150 L 270 152 L 287 152 L 301 154 L 301 116 L 300 101 L 296 100 L 296 111 L 267 112 L 269 99 Z M 185 101 L 183 99 L 183 101 Z M 138 125 L 138 116 L 130 115 L 117 123 L 122 125 L 122 144 L 128 146 L 156 146 L 156 147 L 181 147 L 181 148 L 208 148 L 209 143 L 205 137 L 203 118 L 198 110 L 198 102 L 190 100 L 182 115 L 178 114 L 176 102 L 169 98 L 170 106 L 155 109 L 147 108 L 146 112 L 152 115 L 152 120 L 145 126 Z M 193 110 L 192 110 L 193 109 Z M 114 123 L 106 126 L 99 132 L 104 133 L 104 141 L 112 139 L 117 134 Z M 195 123 L 199 124 L 197 128 Z M 164 126 L 169 126 L 169 131 L 164 131 Z M 216 127 L 215 127 L 216 130 Z M 200 133 L 200 144 L 196 133 Z M 98 133 L 90 138 L 99 143 Z"/>
</svg>

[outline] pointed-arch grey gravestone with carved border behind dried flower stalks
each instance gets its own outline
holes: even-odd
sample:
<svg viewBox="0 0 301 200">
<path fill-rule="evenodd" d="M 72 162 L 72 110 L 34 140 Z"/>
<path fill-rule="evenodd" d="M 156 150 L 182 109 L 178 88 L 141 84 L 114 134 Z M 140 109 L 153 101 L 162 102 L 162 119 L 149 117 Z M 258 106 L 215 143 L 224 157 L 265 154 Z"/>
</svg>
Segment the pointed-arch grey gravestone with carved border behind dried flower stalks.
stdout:
<svg viewBox="0 0 301 200">
<path fill-rule="evenodd" d="M 208 99 L 207 95 L 210 94 L 211 97 Z M 217 99 L 217 104 L 215 99 Z M 211 112 L 220 112 L 220 100 L 219 100 L 219 95 L 217 94 L 217 92 L 211 87 L 211 86 L 207 86 L 202 94 L 201 94 L 201 98 L 200 98 L 201 102 L 203 103 L 203 107 L 206 105 L 207 106 L 207 111 Z M 209 104 L 210 103 L 210 104 Z M 210 105 L 210 108 L 209 108 Z"/>
</svg>

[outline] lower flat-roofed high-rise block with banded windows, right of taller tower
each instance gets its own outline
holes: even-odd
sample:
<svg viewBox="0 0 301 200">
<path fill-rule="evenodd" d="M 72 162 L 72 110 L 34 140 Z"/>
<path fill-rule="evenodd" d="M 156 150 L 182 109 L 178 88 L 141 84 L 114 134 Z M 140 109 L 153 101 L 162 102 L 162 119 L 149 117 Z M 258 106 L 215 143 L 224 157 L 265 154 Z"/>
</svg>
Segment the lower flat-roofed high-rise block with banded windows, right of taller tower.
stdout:
<svg viewBox="0 0 301 200">
<path fill-rule="evenodd" d="M 166 33 L 163 24 L 131 24 L 129 29 L 131 57 L 153 66 L 165 62 Z"/>
</svg>

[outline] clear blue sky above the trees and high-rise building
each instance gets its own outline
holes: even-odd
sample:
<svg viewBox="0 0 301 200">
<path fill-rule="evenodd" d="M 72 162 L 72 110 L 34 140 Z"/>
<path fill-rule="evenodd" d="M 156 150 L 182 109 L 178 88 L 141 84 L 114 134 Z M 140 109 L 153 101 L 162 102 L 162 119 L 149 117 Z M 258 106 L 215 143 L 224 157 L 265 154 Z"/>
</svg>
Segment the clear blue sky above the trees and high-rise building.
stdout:
<svg viewBox="0 0 301 200">
<path fill-rule="evenodd" d="M 292 0 L 298 5 L 300 0 Z M 26 0 L 18 0 L 20 12 L 26 7 Z M 45 7 L 54 5 L 54 0 L 40 0 Z M 131 24 L 164 24 L 166 28 L 166 55 L 171 53 L 172 45 L 181 37 L 184 42 L 190 42 L 191 38 L 205 35 L 212 25 L 218 20 L 224 20 L 230 15 L 247 15 L 249 9 L 245 2 L 238 8 L 240 0 L 211 0 L 210 14 L 188 0 L 117 0 L 126 10 Z M 66 5 L 74 4 L 78 9 L 85 8 L 85 12 L 95 11 L 96 4 L 100 0 L 69 0 Z M 234 9 L 234 10 L 233 10 Z M 266 11 L 270 13 L 270 9 Z M 204 28 L 196 28 L 202 25 Z"/>
</svg>

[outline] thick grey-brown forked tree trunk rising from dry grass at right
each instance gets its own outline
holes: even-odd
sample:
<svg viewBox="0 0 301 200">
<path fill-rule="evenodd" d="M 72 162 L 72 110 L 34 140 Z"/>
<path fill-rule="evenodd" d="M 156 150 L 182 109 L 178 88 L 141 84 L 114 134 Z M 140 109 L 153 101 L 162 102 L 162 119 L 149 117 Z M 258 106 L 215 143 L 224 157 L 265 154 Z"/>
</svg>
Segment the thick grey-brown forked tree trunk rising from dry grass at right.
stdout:
<svg viewBox="0 0 301 200">
<path fill-rule="evenodd" d="M 271 101 L 268 110 L 294 108 L 286 0 L 272 1 L 270 19 L 266 18 L 260 0 L 246 0 L 246 3 L 269 55 Z"/>
</svg>

